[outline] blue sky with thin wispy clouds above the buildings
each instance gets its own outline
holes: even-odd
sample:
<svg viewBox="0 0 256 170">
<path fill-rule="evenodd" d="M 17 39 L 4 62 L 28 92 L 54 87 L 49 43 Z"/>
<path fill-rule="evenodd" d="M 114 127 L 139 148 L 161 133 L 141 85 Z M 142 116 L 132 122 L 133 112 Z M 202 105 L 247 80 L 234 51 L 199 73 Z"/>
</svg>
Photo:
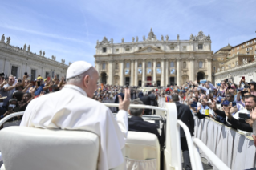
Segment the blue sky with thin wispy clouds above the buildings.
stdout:
<svg viewBox="0 0 256 170">
<path fill-rule="evenodd" d="M 255 7 L 254 0 L 2 0 L 0 34 L 10 36 L 11 45 L 26 43 L 30 51 L 66 63 L 94 64 L 97 39 L 140 41 L 151 27 L 158 39 L 168 34 L 170 40 L 202 30 L 215 52 L 256 37 Z"/>
</svg>

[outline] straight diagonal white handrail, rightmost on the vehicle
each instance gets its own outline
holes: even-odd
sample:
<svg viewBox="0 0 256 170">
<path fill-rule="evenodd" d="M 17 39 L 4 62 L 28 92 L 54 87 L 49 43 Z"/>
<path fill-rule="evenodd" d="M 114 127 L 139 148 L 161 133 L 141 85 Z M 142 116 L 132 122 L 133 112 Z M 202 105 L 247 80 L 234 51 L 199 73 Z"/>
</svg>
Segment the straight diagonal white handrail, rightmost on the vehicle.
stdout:
<svg viewBox="0 0 256 170">
<path fill-rule="evenodd" d="M 198 138 L 193 139 L 193 147 L 200 148 L 205 153 L 207 158 L 216 166 L 217 169 L 230 170 L 230 168 L 222 162 L 201 140 Z M 195 149 L 194 149 L 195 150 Z"/>
</svg>

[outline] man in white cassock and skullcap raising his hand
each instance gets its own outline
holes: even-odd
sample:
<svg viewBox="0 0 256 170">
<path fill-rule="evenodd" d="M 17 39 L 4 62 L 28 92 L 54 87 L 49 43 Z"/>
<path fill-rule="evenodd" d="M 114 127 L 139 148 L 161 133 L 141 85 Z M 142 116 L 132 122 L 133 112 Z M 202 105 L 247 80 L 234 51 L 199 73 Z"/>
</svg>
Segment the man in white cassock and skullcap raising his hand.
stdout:
<svg viewBox="0 0 256 170">
<path fill-rule="evenodd" d="M 111 169 L 124 162 L 121 149 L 128 133 L 130 91 L 125 90 L 124 101 L 119 96 L 115 119 L 108 107 L 91 99 L 98 78 L 90 63 L 72 63 L 67 69 L 67 85 L 61 91 L 33 99 L 20 126 L 94 132 L 100 137 L 98 169 Z"/>
</svg>

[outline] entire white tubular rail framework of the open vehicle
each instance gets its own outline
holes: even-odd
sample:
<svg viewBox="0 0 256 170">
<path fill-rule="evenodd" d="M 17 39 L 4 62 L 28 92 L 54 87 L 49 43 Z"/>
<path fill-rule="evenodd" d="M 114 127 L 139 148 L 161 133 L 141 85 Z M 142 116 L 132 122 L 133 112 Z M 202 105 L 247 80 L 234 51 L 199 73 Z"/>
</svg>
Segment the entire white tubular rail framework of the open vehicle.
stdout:
<svg viewBox="0 0 256 170">
<path fill-rule="evenodd" d="M 118 107 L 117 103 L 103 103 L 108 107 Z M 177 119 L 177 107 L 175 103 L 165 103 L 165 108 L 162 107 L 152 107 L 147 105 L 131 104 L 129 107 L 132 108 L 144 108 L 144 109 L 155 109 L 160 111 L 165 111 L 167 116 L 166 121 L 166 148 L 165 148 L 165 169 L 177 169 L 182 170 L 181 165 L 181 137 L 180 137 L 180 127 L 183 128 L 185 132 L 185 137 L 189 147 L 189 156 L 191 161 L 191 166 L 193 169 L 202 170 L 201 157 L 197 150 L 197 147 L 205 152 L 205 155 L 209 157 L 209 160 L 218 168 L 223 170 L 230 170 L 207 146 L 199 139 L 194 138 L 192 140 L 189 128 L 181 120 Z M 0 120 L 0 126 L 5 123 L 8 119 L 16 117 L 18 115 L 23 115 L 25 111 L 13 113 L 7 115 L 5 118 Z"/>
</svg>

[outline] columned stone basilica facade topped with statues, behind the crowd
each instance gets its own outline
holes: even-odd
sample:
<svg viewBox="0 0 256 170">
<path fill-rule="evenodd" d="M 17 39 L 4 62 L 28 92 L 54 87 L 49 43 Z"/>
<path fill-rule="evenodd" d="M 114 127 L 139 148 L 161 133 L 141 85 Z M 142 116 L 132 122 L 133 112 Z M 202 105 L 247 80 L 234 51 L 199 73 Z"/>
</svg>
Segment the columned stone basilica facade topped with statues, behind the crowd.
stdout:
<svg viewBox="0 0 256 170">
<path fill-rule="evenodd" d="M 104 37 L 95 48 L 100 83 L 144 87 L 212 81 L 211 39 L 202 31 L 188 40 L 181 40 L 179 34 L 170 40 L 168 35 L 157 39 L 151 29 L 141 41 L 133 37 L 131 42 L 122 38 L 121 43 L 113 43 Z"/>
</svg>

